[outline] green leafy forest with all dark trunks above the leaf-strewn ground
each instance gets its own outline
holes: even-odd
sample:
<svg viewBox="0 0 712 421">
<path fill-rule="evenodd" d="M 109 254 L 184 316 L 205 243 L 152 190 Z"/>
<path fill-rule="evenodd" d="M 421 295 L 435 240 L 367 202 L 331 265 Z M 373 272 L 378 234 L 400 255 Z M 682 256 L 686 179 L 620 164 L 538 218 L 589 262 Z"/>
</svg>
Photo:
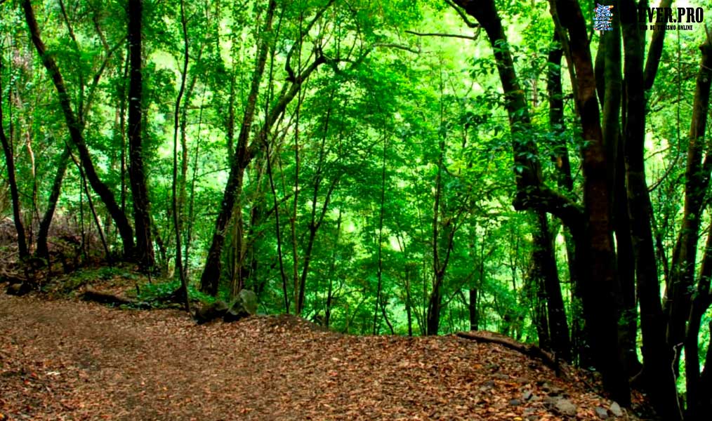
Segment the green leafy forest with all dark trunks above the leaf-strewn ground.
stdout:
<svg viewBox="0 0 712 421">
<path fill-rule="evenodd" d="M 186 311 L 248 290 L 344 334 L 498 332 L 708 420 L 707 16 L 0 0 L 0 275 L 128 267 Z"/>
</svg>

